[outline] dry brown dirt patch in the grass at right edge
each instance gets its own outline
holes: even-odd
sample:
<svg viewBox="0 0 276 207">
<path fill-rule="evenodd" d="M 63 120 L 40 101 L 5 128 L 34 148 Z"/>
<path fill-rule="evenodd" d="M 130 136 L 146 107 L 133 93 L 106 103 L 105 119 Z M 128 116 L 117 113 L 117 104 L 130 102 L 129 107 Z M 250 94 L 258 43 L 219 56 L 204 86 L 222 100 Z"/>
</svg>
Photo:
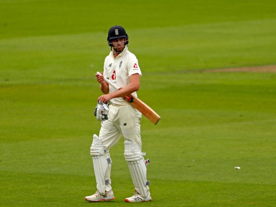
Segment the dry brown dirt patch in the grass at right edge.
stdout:
<svg viewBox="0 0 276 207">
<path fill-rule="evenodd" d="M 200 72 L 202 72 L 202 73 L 213 73 L 213 72 L 253 72 L 253 73 L 270 72 L 270 73 L 276 73 L 276 65 L 200 70 Z"/>
</svg>

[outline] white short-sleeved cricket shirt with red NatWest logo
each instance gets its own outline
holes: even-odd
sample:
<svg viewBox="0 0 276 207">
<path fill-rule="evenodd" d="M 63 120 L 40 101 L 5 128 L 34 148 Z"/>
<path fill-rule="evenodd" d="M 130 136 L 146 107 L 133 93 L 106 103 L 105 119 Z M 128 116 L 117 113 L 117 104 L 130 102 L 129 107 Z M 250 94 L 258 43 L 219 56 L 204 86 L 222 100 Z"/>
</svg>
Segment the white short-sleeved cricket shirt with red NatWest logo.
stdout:
<svg viewBox="0 0 276 207">
<path fill-rule="evenodd" d="M 113 52 L 110 51 L 109 55 L 104 60 L 104 76 L 120 88 L 126 87 L 130 84 L 129 76 L 138 73 L 142 76 L 141 70 L 138 65 L 136 56 L 128 51 L 127 47 L 114 58 Z M 116 91 L 112 86 L 109 86 L 109 93 Z M 137 96 L 136 92 L 133 95 Z M 111 100 L 113 104 L 128 105 L 127 101 L 120 98 Z"/>
</svg>

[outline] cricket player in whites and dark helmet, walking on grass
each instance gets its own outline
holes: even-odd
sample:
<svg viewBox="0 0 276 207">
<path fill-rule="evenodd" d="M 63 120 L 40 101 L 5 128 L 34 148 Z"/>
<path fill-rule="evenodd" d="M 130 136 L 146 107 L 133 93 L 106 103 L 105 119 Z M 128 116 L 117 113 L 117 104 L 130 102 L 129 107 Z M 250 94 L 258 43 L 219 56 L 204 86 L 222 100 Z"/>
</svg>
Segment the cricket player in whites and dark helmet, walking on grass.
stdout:
<svg viewBox="0 0 276 207">
<path fill-rule="evenodd" d="M 101 73 L 103 75 L 95 75 L 101 91 L 105 94 L 98 98 L 94 113 L 97 120 L 101 121 L 101 129 L 99 137 L 93 135 L 90 148 L 97 191 L 92 196 L 86 196 L 85 200 L 98 202 L 115 198 L 110 179 L 112 160 L 109 150 L 123 136 L 124 157 L 135 186 L 135 194 L 125 201 L 150 201 L 150 181 L 146 178 L 146 166 L 150 161 L 144 160 L 145 153 L 141 151 L 141 113 L 122 98 L 127 94 L 137 96 L 142 73 L 136 56 L 128 51 L 129 37 L 122 26 L 116 25 L 109 29 L 107 42 L 111 51 L 104 61 L 104 72 Z M 120 90 L 116 91 L 106 83 L 103 76 L 120 87 Z"/>
</svg>

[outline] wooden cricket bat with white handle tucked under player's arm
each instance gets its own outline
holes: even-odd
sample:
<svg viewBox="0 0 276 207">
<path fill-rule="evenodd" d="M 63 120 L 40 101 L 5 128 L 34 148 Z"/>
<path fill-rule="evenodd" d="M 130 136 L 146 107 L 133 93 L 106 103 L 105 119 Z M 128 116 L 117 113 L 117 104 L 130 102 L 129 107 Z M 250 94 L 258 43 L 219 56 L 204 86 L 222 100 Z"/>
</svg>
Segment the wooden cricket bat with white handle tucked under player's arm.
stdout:
<svg viewBox="0 0 276 207">
<path fill-rule="evenodd" d="M 102 75 L 101 73 L 97 72 L 97 74 Z M 114 89 L 117 91 L 120 89 L 118 86 L 116 86 L 114 83 L 112 83 L 109 79 L 104 77 L 104 81 L 111 85 Z M 141 101 L 139 98 L 136 96 L 130 94 L 130 95 L 125 95 L 122 97 L 125 101 L 129 102 L 133 108 L 136 108 L 141 114 L 143 114 L 145 117 L 147 117 L 152 123 L 157 124 L 158 121 L 160 120 L 160 116 L 152 110 L 147 104 L 145 104 L 143 101 Z"/>
</svg>

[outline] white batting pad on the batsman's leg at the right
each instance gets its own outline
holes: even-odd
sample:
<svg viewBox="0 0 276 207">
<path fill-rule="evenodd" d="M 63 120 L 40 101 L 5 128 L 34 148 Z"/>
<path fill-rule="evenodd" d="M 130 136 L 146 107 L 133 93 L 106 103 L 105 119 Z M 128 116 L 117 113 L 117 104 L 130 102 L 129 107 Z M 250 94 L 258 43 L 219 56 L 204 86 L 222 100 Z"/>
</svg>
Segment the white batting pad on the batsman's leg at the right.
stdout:
<svg viewBox="0 0 276 207">
<path fill-rule="evenodd" d="M 129 165 L 129 171 L 135 189 L 143 197 L 147 197 L 147 168 L 144 163 L 144 158 L 137 144 L 132 141 L 124 141 L 124 157 Z"/>
</svg>

